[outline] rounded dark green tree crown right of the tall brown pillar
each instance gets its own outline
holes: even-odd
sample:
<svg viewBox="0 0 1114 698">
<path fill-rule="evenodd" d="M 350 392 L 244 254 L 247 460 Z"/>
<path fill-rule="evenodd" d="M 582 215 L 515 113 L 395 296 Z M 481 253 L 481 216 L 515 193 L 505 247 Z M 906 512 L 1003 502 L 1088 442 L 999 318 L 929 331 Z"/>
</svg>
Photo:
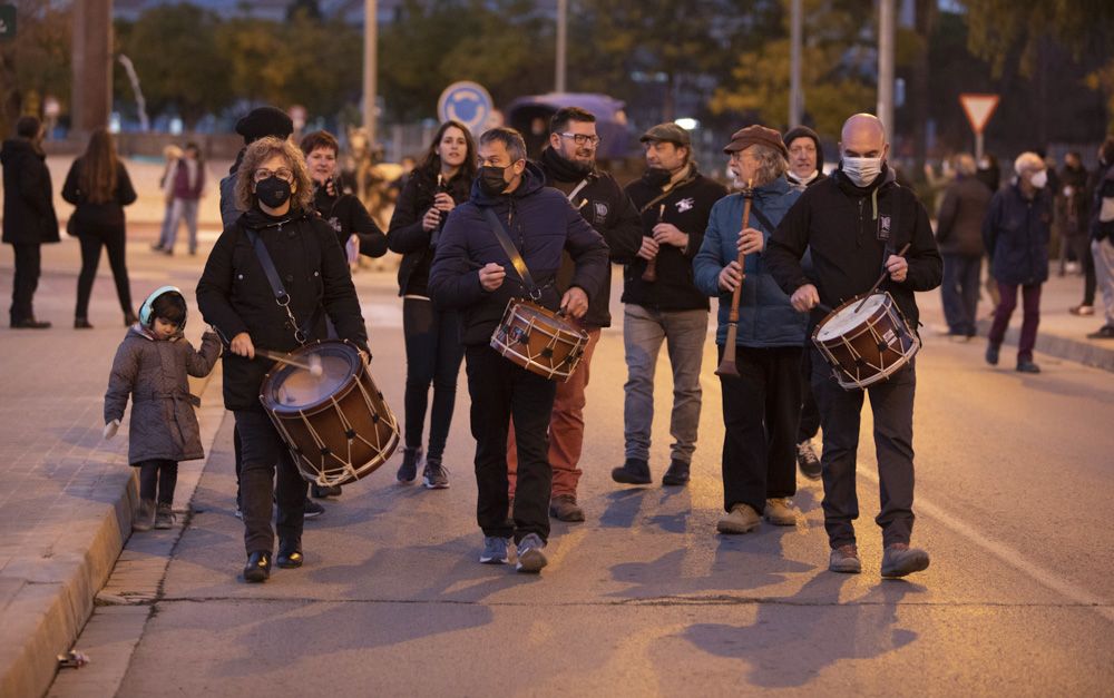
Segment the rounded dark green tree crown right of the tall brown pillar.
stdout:
<svg viewBox="0 0 1114 698">
<path fill-rule="evenodd" d="M 128 29 L 119 49 L 135 65 L 150 114 L 177 111 L 189 128 L 231 104 L 227 66 L 214 39 L 219 23 L 213 12 L 180 3 L 153 7 Z M 118 85 L 121 92 L 130 95 L 126 81 Z"/>
</svg>

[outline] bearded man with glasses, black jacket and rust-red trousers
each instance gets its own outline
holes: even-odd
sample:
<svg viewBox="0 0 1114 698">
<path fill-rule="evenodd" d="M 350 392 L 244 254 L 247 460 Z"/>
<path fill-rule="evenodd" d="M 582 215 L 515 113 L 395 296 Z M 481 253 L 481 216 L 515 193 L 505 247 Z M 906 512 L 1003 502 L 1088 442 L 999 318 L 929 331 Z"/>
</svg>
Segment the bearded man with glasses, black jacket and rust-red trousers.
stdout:
<svg viewBox="0 0 1114 698">
<path fill-rule="evenodd" d="M 577 107 L 566 107 L 549 120 L 549 147 L 541 151 L 538 166 L 546 184 L 560 189 L 573 208 L 604 236 L 612 260 L 631 258 L 642 245 L 638 212 L 615 179 L 596 168 L 596 117 Z M 557 288 L 564 292 L 573 279 L 575 265 L 566 252 L 557 273 Z M 599 341 L 599 331 L 609 327 L 608 309 L 612 289 L 612 267 L 607 265 L 603 286 L 592 295 L 588 312 L 580 319 L 588 332 L 588 344 L 576 372 L 565 383 L 557 384 L 553 416 L 549 421 L 549 464 L 553 466 L 553 491 L 549 514 L 559 521 L 584 521 L 584 510 L 576 501 L 580 480 L 580 449 L 584 444 L 584 391 L 588 385 L 592 354 Z M 510 497 L 515 497 L 518 454 L 514 434 L 507 444 Z"/>
</svg>

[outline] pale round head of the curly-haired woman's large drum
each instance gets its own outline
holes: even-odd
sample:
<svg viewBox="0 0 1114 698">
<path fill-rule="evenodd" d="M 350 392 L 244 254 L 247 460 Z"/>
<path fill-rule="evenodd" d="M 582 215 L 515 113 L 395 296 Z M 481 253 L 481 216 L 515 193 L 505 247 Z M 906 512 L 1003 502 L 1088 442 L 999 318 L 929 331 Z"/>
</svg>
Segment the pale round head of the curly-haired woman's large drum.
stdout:
<svg viewBox="0 0 1114 698">
<path fill-rule="evenodd" d="M 314 358 L 311 358 L 313 356 Z M 343 342 L 311 344 L 294 352 L 303 363 L 321 361 L 321 375 L 277 364 L 263 383 L 263 402 L 277 413 L 313 410 L 329 402 L 360 370 L 360 353 Z"/>
</svg>

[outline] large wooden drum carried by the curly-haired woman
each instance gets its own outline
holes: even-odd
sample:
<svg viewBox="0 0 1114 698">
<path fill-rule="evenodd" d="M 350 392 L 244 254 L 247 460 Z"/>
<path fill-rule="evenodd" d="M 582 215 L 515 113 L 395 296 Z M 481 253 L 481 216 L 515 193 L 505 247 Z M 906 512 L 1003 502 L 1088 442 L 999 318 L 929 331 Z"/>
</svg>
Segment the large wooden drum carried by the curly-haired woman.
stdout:
<svg viewBox="0 0 1114 698">
<path fill-rule="evenodd" d="M 321 375 L 276 363 L 260 401 L 302 478 L 321 486 L 346 484 L 385 463 L 399 445 L 398 422 L 355 345 L 324 340 L 289 356 L 303 364 L 320 360 Z"/>
</svg>

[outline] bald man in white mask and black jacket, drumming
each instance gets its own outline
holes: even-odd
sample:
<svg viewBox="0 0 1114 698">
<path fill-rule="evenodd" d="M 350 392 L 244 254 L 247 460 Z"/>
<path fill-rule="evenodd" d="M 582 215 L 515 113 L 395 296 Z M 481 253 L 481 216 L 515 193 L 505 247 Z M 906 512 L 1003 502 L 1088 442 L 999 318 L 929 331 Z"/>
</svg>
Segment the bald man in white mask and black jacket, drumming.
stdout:
<svg viewBox="0 0 1114 698">
<path fill-rule="evenodd" d="M 766 248 L 766 264 L 790 302 L 812 313 L 815 324 L 828 311 L 871 289 L 885 274 L 879 291 L 889 293 L 916 332 L 913 292 L 940 285 L 944 263 L 928 222 L 928 213 L 912 191 L 897 184 L 886 164 L 889 145 L 882 122 L 857 114 L 843 124 L 841 160 L 832 176 L 810 187 L 789 210 Z M 897 254 L 908 245 L 905 255 Z M 811 282 L 801 256 L 811 250 Z M 913 524 L 912 405 L 917 377 L 910 360 L 888 380 L 868 389 L 844 390 L 815 347 L 812 390 L 823 427 L 824 528 L 833 572 L 861 571 L 853 521 L 859 517 L 856 494 L 856 452 L 863 394 L 869 393 L 874 419 L 874 449 L 881 491 L 882 577 L 903 577 L 928 567 L 928 553 L 910 548 Z"/>
</svg>

